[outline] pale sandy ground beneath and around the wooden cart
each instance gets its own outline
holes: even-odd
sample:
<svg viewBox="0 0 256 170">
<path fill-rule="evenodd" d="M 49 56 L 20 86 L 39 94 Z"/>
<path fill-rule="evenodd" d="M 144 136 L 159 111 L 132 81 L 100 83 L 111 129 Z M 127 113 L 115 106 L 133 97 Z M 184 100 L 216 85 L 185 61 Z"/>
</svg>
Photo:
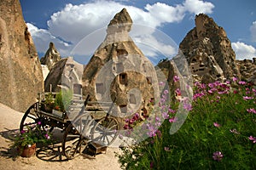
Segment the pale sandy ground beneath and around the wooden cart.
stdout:
<svg viewBox="0 0 256 170">
<path fill-rule="evenodd" d="M 47 150 L 46 157 L 43 157 L 45 156 L 45 151 L 39 149 L 37 150 L 38 156 L 32 156 L 31 158 L 17 156 L 16 150 L 9 150 L 9 141 L 11 141 L 9 136 L 19 129 L 22 116 L 23 113 L 14 111 L 9 107 L 0 104 L 0 169 L 120 169 L 118 159 L 114 156 L 114 152 L 119 151 L 118 148 L 108 148 L 106 154 L 97 155 L 96 159 L 88 159 L 84 156 L 78 156 L 73 160 L 65 161 L 66 157 L 61 156 L 58 151 L 61 144 L 55 144 L 53 150 Z M 58 130 L 54 131 L 54 138 L 61 139 L 61 133 L 58 132 Z M 49 154 L 52 154 L 52 156 L 49 156 Z M 51 161 L 45 161 L 49 159 L 51 159 Z"/>
</svg>

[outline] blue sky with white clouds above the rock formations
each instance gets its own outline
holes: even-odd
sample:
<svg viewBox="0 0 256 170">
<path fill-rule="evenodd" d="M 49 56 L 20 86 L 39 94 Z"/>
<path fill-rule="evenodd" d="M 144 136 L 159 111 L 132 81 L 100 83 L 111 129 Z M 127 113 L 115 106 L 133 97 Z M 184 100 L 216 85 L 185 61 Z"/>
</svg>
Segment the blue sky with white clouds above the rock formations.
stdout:
<svg viewBox="0 0 256 170">
<path fill-rule="evenodd" d="M 86 64 L 106 36 L 106 26 L 122 8 L 133 20 L 131 37 L 157 63 L 177 54 L 177 46 L 205 13 L 224 27 L 236 59 L 256 57 L 255 0 L 20 0 L 39 57 L 54 42 L 61 57 Z"/>
</svg>

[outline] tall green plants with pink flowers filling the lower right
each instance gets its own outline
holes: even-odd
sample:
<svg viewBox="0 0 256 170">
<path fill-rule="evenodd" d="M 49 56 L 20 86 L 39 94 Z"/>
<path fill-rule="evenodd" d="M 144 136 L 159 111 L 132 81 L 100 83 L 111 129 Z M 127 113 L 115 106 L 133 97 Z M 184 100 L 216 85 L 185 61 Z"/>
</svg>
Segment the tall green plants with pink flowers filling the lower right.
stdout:
<svg viewBox="0 0 256 170">
<path fill-rule="evenodd" d="M 256 88 L 236 78 L 195 82 L 193 109 L 177 133 L 169 133 L 177 104 L 166 104 L 165 122 L 122 148 L 119 162 L 124 169 L 256 169 L 255 102 Z"/>
</svg>

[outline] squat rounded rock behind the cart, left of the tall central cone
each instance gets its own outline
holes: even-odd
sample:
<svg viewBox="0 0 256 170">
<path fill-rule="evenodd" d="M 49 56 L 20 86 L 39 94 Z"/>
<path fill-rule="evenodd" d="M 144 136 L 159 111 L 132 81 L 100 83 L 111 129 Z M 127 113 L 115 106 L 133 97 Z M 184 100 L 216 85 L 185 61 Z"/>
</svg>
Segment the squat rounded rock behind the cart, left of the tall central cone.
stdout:
<svg viewBox="0 0 256 170">
<path fill-rule="evenodd" d="M 84 65 L 73 60 L 73 57 L 61 59 L 49 71 L 44 81 L 45 92 L 58 92 L 61 88 L 71 89 L 78 93 L 82 88 Z M 74 89 L 75 88 L 75 89 Z"/>
</svg>

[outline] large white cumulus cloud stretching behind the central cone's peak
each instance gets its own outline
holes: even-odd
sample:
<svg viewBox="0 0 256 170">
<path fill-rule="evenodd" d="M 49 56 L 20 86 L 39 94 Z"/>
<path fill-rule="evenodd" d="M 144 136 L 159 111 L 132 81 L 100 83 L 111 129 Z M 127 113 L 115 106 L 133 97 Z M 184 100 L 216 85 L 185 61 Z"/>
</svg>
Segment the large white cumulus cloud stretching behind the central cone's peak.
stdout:
<svg viewBox="0 0 256 170">
<path fill-rule="evenodd" d="M 175 53 L 173 52 L 174 47 L 172 45 L 168 44 L 168 42 L 161 41 L 154 35 L 155 30 L 159 29 L 163 24 L 183 20 L 186 13 L 210 14 L 214 5 L 201 0 L 185 0 L 183 3 L 175 6 L 166 3 L 154 3 L 147 4 L 144 8 L 137 8 L 131 5 L 124 5 L 121 2 L 107 0 L 93 1 L 80 5 L 69 3 L 65 8 L 51 15 L 50 20 L 47 21 L 48 30 L 38 29 L 32 25 L 29 27 L 39 52 L 44 53 L 48 48 L 49 41 L 51 41 L 55 43 L 61 56 L 65 57 L 70 55 L 70 52 L 73 51 L 72 49 L 74 47 L 77 47 L 79 41 L 84 37 L 90 37 L 93 32 L 103 29 L 105 35 L 101 34 L 101 36 L 104 35 L 105 37 L 106 26 L 113 19 L 114 14 L 118 13 L 122 8 L 126 8 L 131 15 L 134 23 L 133 27 L 140 25 L 150 28 L 139 31 L 140 34 L 132 30 L 131 37 L 136 40 L 136 43 L 147 41 L 146 43 L 154 46 L 154 48 L 145 48 L 144 44 L 142 50 L 148 57 L 155 58 L 157 50 L 167 55 Z M 93 37 L 89 39 L 92 40 Z M 90 49 L 84 51 L 87 55 L 96 50 L 96 47 L 102 41 L 102 38 L 99 37 L 95 39 L 94 41 L 87 42 L 87 48 L 90 47 Z"/>
</svg>

